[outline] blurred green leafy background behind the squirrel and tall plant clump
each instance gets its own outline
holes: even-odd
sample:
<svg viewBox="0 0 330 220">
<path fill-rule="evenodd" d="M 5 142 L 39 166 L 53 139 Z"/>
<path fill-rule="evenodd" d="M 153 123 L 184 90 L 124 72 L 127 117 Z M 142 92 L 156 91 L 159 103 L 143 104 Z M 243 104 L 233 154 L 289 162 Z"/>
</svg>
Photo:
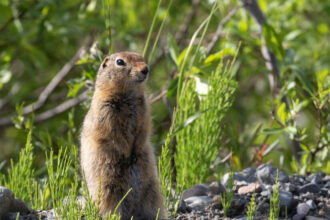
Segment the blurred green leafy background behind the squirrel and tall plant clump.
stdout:
<svg viewBox="0 0 330 220">
<path fill-rule="evenodd" d="M 226 170 L 232 152 L 232 169 L 240 170 L 271 162 L 289 173 L 324 171 L 330 174 L 329 89 L 330 89 L 330 1 L 265 0 L 258 1 L 269 29 L 264 29 L 267 46 L 278 58 L 278 91 L 272 93 L 271 73 L 261 53 L 260 29 L 243 1 L 219 1 L 202 42 L 210 44 L 219 23 L 238 8 L 223 26 L 211 54 L 224 48 L 237 49 L 233 66 L 238 82 L 235 101 L 222 124 L 219 142 L 222 148 L 215 165 L 216 175 Z M 148 95 L 162 93 L 176 72 L 171 62 L 174 38 L 183 50 L 193 33 L 210 14 L 214 0 L 175 0 L 164 23 L 157 47 L 149 59 L 151 67 Z M 114 51 L 142 53 L 152 19 L 156 14 L 151 45 L 157 37 L 169 5 L 158 1 L 110 0 L 110 26 Z M 0 172 L 10 159 L 17 159 L 26 141 L 26 121 L 37 118 L 61 103 L 75 99 L 93 84 L 98 65 L 109 53 L 105 21 L 108 8 L 98 0 L 1 0 L 0 2 Z M 86 43 L 87 42 L 87 43 Z M 22 108 L 38 100 L 41 92 L 70 62 L 79 48 L 87 52 L 60 80 L 47 100 L 24 117 Z M 283 106 L 283 97 L 289 105 Z M 45 151 L 61 146 L 79 145 L 79 132 L 89 100 L 61 114 L 34 124 L 34 151 L 39 158 L 37 175 L 43 167 Z M 174 95 L 152 104 L 152 144 L 156 154 L 171 124 Z M 18 113 L 17 113 L 18 112 Z M 14 117 L 15 125 L 10 118 Z M 8 121 L 9 120 L 9 121 Z M 292 140 L 299 143 L 294 156 Z"/>
</svg>

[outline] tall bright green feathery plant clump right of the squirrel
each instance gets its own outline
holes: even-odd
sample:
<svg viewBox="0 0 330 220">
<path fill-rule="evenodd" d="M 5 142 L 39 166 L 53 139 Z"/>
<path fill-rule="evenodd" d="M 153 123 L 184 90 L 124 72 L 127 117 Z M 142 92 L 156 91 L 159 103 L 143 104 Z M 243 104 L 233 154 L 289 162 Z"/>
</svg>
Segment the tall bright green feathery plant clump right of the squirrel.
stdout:
<svg viewBox="0 0 330 220">
<path fill-rule="evenodd" d="M 237 88 L 232 80 L 231 65 L 225 64 L 223 58 L 224 54 L 232 55 L 233 63 L 238 50 L 228 54 L 228 50 L 224 49 L 222 56 L 207 57 L 201 46 L 217 8 L 217 4 L 214 4 L 210 15 L 194 32 L 188 47 L 181 54 L 173 52 L 177 54 L 172 55 L 179 70 L 175 87 L 177 103 L 159 158 L 159 171 L 166 206 L 174 213 L 182 191 L 207 181 L 212 175 L 210 167 L 221 149 L 221 122 L 234 100 Z M 199 34 L 198 44 L 194 45 Z M 201 91 L 200 86 L 207 87 L 207 91 Z M 176 191 L 174 196 L 168 192 L 172 187 Z"/>
</svg>

